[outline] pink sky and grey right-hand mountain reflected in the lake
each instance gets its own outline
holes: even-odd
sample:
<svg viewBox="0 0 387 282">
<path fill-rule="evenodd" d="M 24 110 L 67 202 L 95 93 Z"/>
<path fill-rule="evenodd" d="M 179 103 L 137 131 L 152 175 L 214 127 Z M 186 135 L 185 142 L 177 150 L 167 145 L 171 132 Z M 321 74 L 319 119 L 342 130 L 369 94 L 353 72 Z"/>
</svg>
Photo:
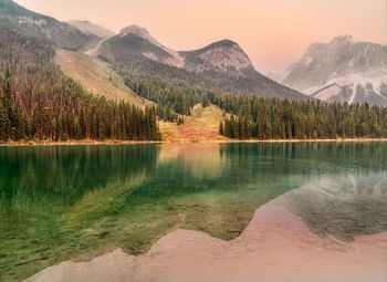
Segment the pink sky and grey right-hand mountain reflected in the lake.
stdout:
<svg viewBox="0 0 387 282">
<path fill-rule="evenodd" d="M 385 282 L 386 186 L 380 178 L 313 180 L 259 208 L 230 242 L 177 230 L 144 255 L 116 250 L 88 263 L 61 263 L 28 281 Z M 362 206 L 354 208 L 358 201 Z M 351 241 L 337 239 L 348 234 Z"/>
</svg>

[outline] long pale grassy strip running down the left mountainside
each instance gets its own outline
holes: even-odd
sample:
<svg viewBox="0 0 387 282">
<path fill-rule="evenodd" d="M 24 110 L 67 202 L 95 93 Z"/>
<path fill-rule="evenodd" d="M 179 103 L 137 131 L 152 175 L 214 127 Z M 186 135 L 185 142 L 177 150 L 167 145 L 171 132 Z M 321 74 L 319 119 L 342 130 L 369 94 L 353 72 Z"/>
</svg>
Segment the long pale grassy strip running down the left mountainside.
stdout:
<svg viewBox="0 0 387 282">
<path fill-rule="evenodd" d="M 86 90 L 107 100 L 125 101 L 139 107 L 153 104 L 125 86 L 123 79 L 112 67 L 83 53 L 56 50 L 55 62 L 62 71 Z"/>
</svg>

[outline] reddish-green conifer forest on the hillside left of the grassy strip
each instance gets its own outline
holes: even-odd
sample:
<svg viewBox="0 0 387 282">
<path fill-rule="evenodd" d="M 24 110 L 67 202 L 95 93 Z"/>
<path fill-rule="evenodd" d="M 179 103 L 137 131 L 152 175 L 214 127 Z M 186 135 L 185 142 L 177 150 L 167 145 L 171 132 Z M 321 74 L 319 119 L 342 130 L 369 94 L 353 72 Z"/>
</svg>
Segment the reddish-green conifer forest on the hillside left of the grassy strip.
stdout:
<svg viewBox="0 0 387 282">
<path fill-rule="evenodd" d="M 0 140 L 158 140 L 156 108 L 85 92 L 53 64 L 54 46 L 0 30 Z"/>
</svg>

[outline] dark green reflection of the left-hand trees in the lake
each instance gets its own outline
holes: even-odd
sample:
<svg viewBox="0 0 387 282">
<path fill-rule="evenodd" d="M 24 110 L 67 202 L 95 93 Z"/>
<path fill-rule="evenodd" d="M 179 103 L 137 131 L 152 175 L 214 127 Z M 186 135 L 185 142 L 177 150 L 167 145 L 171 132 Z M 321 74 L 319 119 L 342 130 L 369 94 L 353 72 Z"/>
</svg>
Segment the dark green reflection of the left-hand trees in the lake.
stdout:
<svg viewBox="0 0 387 282">
<path fill-rule="evenodd" d="M 9 205 L 20 195 L 34 201 L 48 196 L 75 201 L 87 190 L 153 171 L 158 150 L 158 146 L 0 148 L 0 192 Z"/>
</svg>

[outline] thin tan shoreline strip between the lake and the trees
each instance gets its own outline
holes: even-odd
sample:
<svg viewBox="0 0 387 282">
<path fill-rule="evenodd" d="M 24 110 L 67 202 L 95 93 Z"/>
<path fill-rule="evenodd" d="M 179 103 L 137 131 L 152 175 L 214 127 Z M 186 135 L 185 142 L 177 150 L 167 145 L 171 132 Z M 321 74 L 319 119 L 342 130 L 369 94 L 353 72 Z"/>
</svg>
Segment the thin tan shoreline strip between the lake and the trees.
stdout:
<svg viewBox="0 0 387 282">
<path fill-rule="evenodd" d="M 163 145 L 163 144 L 263 144 L 263 143 L 373 143 L 386 142 L 387 138 L 337 138 L 337 139 L 199 139 L 199 140 L 67 140 L 67 142 L 6 142 L 0 143 L 0 147 L 50 147 L 50 146 L 124 146 L 124 145 Z"/>
</svg>

